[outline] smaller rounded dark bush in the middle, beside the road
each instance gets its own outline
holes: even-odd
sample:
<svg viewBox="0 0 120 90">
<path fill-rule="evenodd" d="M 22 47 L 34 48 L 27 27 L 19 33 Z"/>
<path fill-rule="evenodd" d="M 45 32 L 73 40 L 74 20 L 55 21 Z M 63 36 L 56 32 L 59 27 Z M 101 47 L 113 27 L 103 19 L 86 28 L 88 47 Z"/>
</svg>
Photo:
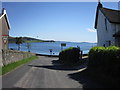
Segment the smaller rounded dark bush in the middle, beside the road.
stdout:
<svg viewBox="0 0 120 90">
<path fill-rule="evenodd" d="M 59 53 L 59 60 L 65 65 L 72 65 L 79 61 L 80 49 L 70 47 Z"/>
</svg>

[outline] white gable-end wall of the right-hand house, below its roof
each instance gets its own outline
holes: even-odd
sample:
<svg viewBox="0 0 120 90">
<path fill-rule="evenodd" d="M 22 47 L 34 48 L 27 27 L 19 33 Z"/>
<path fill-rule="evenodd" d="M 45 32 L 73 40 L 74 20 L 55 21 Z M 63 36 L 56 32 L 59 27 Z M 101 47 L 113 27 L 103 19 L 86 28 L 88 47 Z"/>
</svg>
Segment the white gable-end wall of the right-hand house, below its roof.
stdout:
<svg viewBox="0 0 120 90">
<path fill-rule="evenodd" d="M 97 38 L 98 38 L 98 46 L 105 46 L 107 45 L 107 41 L 111 41 L 111 44 L 115 44 L 115 38 L 113 37 L 113 34 L 116 32 L 116 25 L 110 23 L 107 19 L 107 30 L 105 28 L 105 16 L 103 13 L 99 10 L 98 15 L 98 24 L 97 24 Z"/>
</svg>

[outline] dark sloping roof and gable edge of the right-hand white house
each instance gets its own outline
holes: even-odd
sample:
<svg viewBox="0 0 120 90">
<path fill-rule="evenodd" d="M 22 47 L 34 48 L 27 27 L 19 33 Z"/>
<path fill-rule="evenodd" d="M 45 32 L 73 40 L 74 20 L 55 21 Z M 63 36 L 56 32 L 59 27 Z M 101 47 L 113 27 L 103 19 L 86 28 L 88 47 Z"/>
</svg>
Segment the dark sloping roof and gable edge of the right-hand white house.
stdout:
<svg viewBox="0 0 120 90">
<path fill-rule="evenodd" d="M 120 10 L 113 10 L 104 7 L 97 7 L 95 29 L 97 28 L 99 10 L 108 19 L 110 23 L 120 24 Z"/>
</svg>

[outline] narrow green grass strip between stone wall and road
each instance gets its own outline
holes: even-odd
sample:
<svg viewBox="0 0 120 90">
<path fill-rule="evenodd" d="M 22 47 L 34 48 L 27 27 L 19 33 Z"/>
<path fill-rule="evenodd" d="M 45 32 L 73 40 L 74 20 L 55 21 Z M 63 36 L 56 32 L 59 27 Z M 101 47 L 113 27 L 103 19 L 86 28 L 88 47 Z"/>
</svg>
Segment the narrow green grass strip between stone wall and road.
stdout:
<svg viewBox="0 0 120 90">
<path fill-rule="evenodd" d="M 26 64 L 26 63 L 34 60 L 34 59 L 37 59 L 37 58 L 38 58 L 37 56 L 32 56 L 30 58 L 26 58 L 26 59 L 23 59 L 23 60 L 8 64 L 8 65 L 0 68 L 0 75 L 4 75 L 4 74 L 14 70 L 16 67 L 18 67 L 20 65 L 23 65 L 23 64 Z"/>
</svg>

